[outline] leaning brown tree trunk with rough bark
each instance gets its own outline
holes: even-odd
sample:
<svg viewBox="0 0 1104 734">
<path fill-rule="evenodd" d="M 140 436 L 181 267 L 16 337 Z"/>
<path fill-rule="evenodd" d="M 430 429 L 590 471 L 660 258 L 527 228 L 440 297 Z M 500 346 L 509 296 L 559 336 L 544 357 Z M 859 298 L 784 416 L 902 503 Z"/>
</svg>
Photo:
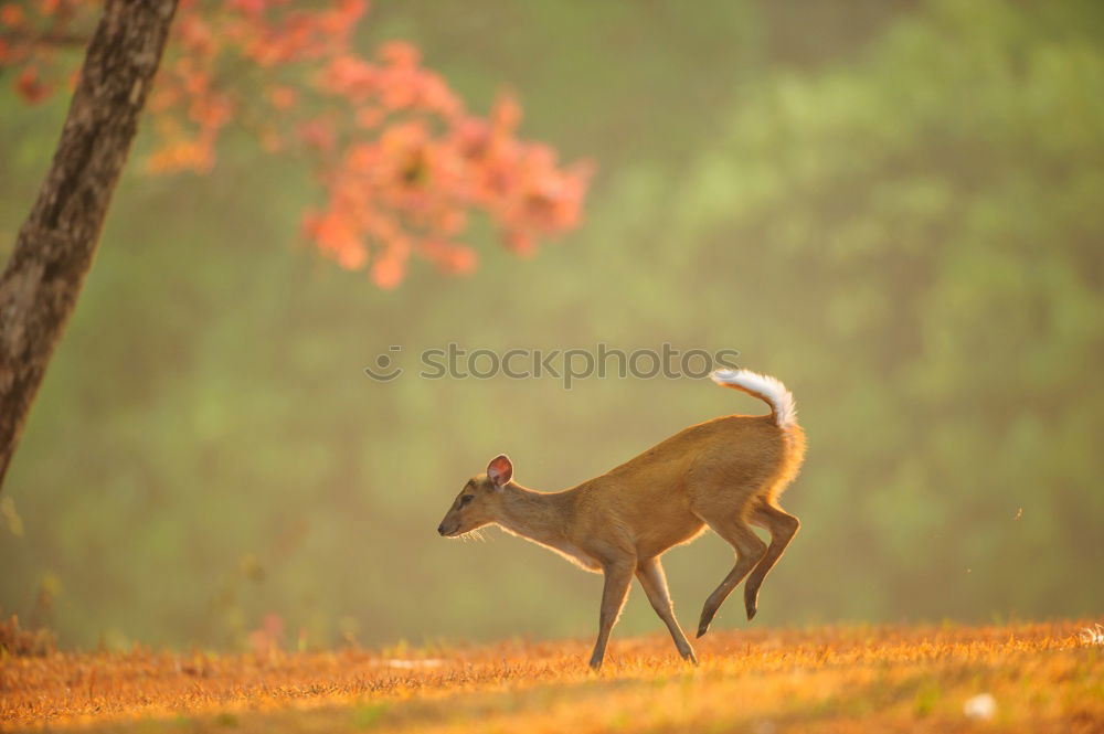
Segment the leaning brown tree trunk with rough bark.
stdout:
<svg viewBox="0 0 1104 734">
<path fill-rule="evenodd" d="M 61 141 L 0 277 L 0 485 L 76 305 L 177 0 L 107 0 Z"/>
</svg>

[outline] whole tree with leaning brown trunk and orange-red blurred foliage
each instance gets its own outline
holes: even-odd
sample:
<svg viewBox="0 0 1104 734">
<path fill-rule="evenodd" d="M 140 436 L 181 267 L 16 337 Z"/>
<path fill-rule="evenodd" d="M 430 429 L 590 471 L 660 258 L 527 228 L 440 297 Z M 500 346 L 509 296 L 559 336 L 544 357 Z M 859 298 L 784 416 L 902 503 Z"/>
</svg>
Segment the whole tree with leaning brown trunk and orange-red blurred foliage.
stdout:
<svg viewBox="0 0 1104 734">
<path fill-rule="evenodd" d="M 63 86 L 59 51 L 83 43 L 98 7 L 0 7 L 0 67 L 18 70 L 23 99 Z M 268 151 L 308 152 L 327 198 L 305 214 L 305 234 L 342 267 L 369 267 L 381 287 L 400 283 L 412 254 L 470 272 L 475 253 L 457 242 L 470 210 L 489 215 L 519 253 L 575 226 L 588 164 L 561 169 L 551 148 L 518 140 L 521 110 L 509 96 L 488 119 L 468 114 L 410 44 L 385 44 L 375 61 L 355 54 L 350 35 L 365 7 L 185 0 L 152 91 L 160 146 L 147 169 L 211 170 L 235 119 Z M 92 263 L 176 8 L 105 6 L 54 167 L 0 281 L 0 482 Z"/>
</svg>

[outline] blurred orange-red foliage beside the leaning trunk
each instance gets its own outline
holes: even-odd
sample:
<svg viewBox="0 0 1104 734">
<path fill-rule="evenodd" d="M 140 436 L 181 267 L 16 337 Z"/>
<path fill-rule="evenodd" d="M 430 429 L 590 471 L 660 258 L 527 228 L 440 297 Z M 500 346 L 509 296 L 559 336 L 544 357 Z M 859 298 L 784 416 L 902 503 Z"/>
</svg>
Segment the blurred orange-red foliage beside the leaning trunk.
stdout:
<svg viewBox="0 0 1104 734">
<path fill-rule="evenodd" d="M 85 38 L 96 0 L 0 4 L 0 70 L 35 103 L 66 86 L 63 51 Z M 305 152 L 323 196 L 302 231 L 381 287 L 412 256 L 446 273 L 476 266 L 463 243 L 474 212 L 521 254 L 575 227 L 591 167 L 563 167 L 551 148 L 517 137 L 521 110 L 501 96 L 473 115 L 417 50 L 353 49 L 364 0 L 182 0 L 148 113 L 158 143 L 150 173 L 212 170 L 231 124 L 269 152 Z"/>
</svg>

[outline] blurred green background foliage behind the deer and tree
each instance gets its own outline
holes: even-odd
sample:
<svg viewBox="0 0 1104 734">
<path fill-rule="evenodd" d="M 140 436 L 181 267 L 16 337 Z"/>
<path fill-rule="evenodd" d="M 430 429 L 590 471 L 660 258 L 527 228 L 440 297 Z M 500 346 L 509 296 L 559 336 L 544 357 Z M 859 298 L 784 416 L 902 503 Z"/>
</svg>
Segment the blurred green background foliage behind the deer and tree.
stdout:
<svg viewBox="0 0 1104 734">
<path fill-rule="evenodd" d="M 585 224 L 395 291 L 298 244 L 308 172 L 131 167 L 10 472 L 0 605 L 77 647 L 590 636 L 601 579 L 435 528 L 500 451 L 561 489 L 760 404 L 693 380 L 370 381 L 390 344 L 737 349 L 809 436 L 755 625 L 1104 611 L 1104 6 L 379 2 L 587 157 Z M 10 252 L 65 100 L 0 98 Z M 141 145 L 141 143 L 140 143 Z M 684 625 L 731 565 L 667 556 Z M 719 616 L 742 626 L 739 602 Z M 634 589 L 620 634 L 660 629 Z"/>
</svg>

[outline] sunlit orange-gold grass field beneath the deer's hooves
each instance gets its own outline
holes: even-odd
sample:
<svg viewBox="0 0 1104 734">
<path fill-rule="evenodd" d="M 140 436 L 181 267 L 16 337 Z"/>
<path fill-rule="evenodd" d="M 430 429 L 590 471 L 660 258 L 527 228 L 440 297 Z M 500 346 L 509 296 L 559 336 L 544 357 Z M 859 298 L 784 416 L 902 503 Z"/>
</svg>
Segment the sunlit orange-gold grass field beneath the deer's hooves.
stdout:
<svg viewBox="0 0 1104 734">
<path fill-rule="evenodd" d="M 1104 732 L 1092 623 L 711 632 L 236 655 L 0 661 L 4 730 L 191 732 Z"/>
</svg>

